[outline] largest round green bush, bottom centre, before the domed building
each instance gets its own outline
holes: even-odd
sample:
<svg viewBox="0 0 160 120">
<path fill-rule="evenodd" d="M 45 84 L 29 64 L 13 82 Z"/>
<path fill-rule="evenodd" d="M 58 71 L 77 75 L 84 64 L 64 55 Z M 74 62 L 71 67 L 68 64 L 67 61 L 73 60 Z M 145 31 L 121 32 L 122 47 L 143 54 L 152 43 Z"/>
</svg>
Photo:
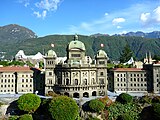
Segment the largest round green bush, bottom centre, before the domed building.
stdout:
<svg viewBox="0 0 160 120">
<path fill-rule="evenodd" d="M 76 102 L 67 96 L 54 97 L 49 103 L 49 112 L 54 120 L 75 120 L 78 110 Z"/>
</svg>

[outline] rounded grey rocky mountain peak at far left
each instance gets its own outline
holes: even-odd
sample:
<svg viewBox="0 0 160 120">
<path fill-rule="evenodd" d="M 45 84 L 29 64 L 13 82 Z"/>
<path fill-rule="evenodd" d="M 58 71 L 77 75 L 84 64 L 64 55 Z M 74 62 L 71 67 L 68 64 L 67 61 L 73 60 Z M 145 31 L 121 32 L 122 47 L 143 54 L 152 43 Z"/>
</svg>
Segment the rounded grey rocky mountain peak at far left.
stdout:
<svg viewBox="0 0 160 120">
<path fill-rule="evenodd" d="M 20 42 L 25 39 L 36 38 L 36 34 L 25 27 L 17 24 L 10 24 L 0 27 L 0 41 L 1 42 Z"/>
</svg>

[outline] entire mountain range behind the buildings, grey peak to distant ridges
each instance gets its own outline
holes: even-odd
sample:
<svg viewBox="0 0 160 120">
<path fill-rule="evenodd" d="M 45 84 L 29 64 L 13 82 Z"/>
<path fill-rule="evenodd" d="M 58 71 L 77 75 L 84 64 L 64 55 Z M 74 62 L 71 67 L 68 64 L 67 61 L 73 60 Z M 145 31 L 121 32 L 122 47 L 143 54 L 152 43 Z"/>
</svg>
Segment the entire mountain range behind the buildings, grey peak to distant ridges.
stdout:
<svg viewBox="0 0 160 120">
<path fill-rule="evenodd" d="M 97 50 L 103 49 L 111 60 L 119 60 L 124 46 L 128 44 L 134 56 L 140 60 L 149 51 L 152 56 L 160 56 L 158 35 L 159 32 L 154 31 L 151 33 L 130 32 L 113 36 L 100 33 L 91 36 L 78 36 L 79 40 L 85 44 L 86 55 L 91 57 L 95 56 Z M 148 36 L 148 38 L 142 36 Z M 12 59 L 19 50 L 24 50 L 26 55 L 34 55 L 37 52 L 45 54 L 49 49 L 53 49 L 57 56 L 66 56 L 67 45 L 73 40 L 73 37 L 74 35 L 49 35 L 37 38 L 33 31 L 25 27 L 15 24 L 3 26 L 0 27 L 0 58 L 5 56 L 7 59 Z M 54 47 L 51 47 L 51 44 L 54 44 Z M 104 44 L 103 48 L 100 46 L 101 44 Z"/>
</svg>

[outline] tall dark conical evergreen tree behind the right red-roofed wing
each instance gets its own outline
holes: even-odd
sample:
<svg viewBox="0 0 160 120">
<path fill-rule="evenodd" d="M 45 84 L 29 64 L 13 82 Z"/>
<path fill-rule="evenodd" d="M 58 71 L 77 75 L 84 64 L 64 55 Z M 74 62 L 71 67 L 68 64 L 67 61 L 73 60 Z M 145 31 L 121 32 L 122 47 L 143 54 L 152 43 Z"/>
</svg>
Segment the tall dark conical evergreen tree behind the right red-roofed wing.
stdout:
<svg viewBox="0 0 160 120">
<path fill-rule="evenodd" d="M 128 44 L 124 47 L 124 50 L 122 51 L 122 54 L 120 56 L 120 62 L 125 63 L 130 60 L 130 58 L 133 56 L 133 52 L 131 51 Z"/>
</svg>

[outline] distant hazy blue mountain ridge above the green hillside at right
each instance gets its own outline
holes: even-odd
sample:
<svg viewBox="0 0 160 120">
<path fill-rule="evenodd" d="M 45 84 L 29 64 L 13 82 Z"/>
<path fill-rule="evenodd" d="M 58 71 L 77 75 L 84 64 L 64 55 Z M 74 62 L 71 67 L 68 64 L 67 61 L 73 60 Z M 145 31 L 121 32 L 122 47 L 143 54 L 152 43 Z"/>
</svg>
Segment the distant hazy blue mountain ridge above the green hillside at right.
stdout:
<svg viewBox="0 0 160 120">
<path fill-rule="evenodd" d="M 137 31 L 137 32 L 128 32 L 126 34 L 116 34 L 116 35 L 118 36 L 136 36 L 136 37 L 144 37 L 144 38 L 160 38 L 160 31 L 153 31 L 149 33 Z"/>
</svg>

